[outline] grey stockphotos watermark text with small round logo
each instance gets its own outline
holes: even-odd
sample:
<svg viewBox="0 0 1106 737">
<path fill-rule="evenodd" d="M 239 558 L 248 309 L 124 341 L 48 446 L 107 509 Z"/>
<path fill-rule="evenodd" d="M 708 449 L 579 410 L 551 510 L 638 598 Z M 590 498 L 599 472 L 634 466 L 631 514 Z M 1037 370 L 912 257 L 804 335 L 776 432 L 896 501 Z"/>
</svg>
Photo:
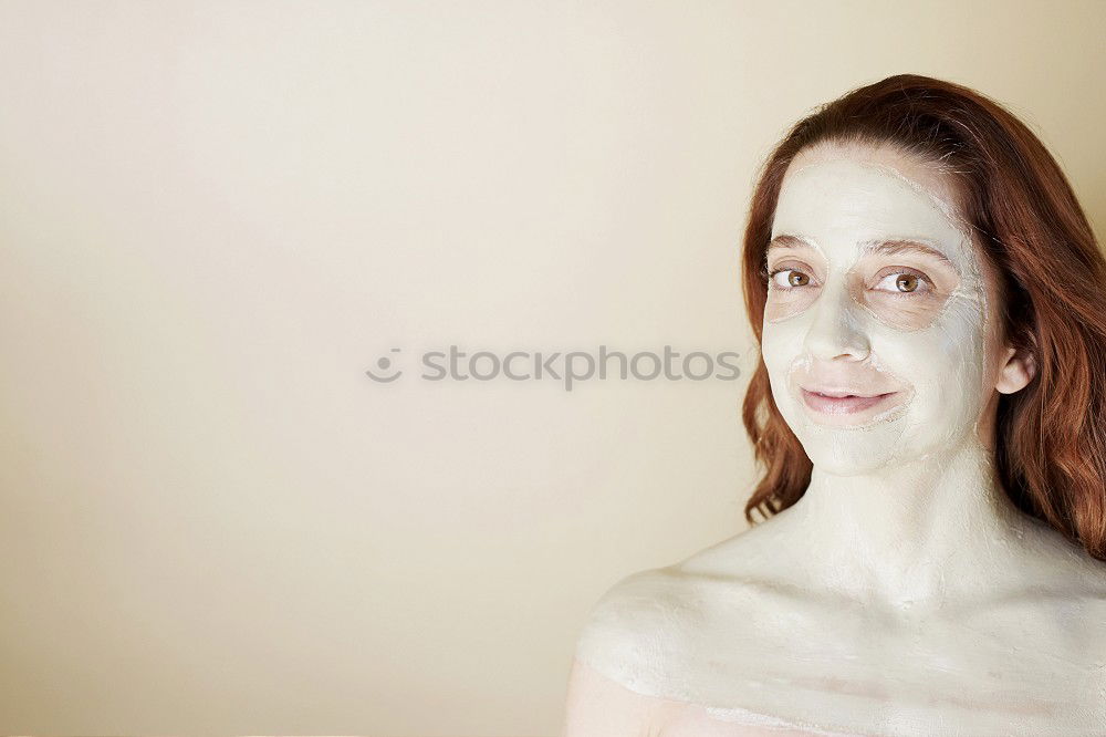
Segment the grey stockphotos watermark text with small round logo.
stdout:
<svg viewBox="0 0 1106 737">
<path fill-rule="evenodd" d="M 365 374 L 379 384 L 398 381 L 405 371 L 398 365 L 403 349 L 394 347 L 390 355 L 378 359 Z M 733 363 L 741 354 L 732 351 L 710 354 L 691 351 L 680 354 L 666 345 L 664 351 L 639 351 L 626 353 L 611 351 L 601 345 L 596 354 L 589 351 L 545 353 L 542 351 L 461 351 L 450 345 L 448 351 L 426 351 L 420 354 L 422 373 L 419 378 L 428 382 L 444 381 L 512 381 L 512 382 L 561 382 L 565 392 L 571 392 L 580 382 L 617 377 L 627 381 L 691 381 L 717 380 L 732 382 L 741 375 Z M 612 366 L 616 373 L 612 373 Z"/>
</svg>

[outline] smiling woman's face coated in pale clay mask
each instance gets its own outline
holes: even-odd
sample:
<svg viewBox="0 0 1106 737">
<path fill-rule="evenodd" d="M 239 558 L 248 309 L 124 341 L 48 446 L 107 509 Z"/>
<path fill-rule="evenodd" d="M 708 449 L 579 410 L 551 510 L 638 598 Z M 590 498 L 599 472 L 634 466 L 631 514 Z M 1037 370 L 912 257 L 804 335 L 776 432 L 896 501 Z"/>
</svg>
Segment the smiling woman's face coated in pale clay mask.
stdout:
<svg viewBox="0 0 1106 737">
<path fill-rule="evenodd" d="M 945 175 L 891 148 L 807 149 L 787 169 L 761 349 L 776 406 L 822 469 L 989 443 L 977 422 L 990 427 L 1008 354 L 993 274 L 952 201 Z"/>
</svg>

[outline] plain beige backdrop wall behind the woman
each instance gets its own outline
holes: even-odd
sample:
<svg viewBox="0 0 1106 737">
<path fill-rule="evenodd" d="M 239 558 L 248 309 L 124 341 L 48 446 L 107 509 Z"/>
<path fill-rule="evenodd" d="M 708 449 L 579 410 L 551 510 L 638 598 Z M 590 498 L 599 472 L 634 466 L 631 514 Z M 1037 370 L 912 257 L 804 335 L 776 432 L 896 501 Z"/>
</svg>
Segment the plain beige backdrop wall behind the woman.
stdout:
<svg viewBox="0 0 1106 737">
<path fill-rule="evenodd" d="M 1099 1 L 0 3 L 0 731 L 555 734 L 595 599 L 743 529 L 748 373 L 363 372 L 750 366 L 755 168 L 893 73 L 1008 104 L 1102 235 L 1103 38 Z"/>
</svg>

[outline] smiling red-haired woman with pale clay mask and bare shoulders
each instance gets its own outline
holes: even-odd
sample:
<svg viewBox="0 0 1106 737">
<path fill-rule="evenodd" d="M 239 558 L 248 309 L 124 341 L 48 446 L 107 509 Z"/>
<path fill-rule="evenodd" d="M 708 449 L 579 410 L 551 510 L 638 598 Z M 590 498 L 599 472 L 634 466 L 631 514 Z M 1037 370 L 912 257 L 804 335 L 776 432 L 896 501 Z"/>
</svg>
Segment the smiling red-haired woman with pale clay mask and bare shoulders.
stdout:
<svg viewBox="0 0 1106 737">
<path fill-rule="evenodd" d="M 565 735 L 1106 735 L 1106 260 L 1041 142 L 853 91 L 743 264 L 763 519 L 601 599 Z"/>
</svg>

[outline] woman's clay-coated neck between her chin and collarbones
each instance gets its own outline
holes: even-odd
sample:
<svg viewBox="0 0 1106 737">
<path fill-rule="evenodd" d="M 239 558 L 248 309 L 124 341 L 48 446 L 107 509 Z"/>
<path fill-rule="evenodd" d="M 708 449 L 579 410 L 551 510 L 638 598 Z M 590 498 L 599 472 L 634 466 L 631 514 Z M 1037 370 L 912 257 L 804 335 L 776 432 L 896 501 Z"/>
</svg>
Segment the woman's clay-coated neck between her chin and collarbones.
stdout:
<svg viewBox="0 0 1106 737">
<path fill-rule="evenodd" d="M 1024 522 L 973 440 L 870 475 L 815 467 L 789 517 L 820 585 L 900 611 L 974 598 L 1009 572 Z"/>
</svg>

